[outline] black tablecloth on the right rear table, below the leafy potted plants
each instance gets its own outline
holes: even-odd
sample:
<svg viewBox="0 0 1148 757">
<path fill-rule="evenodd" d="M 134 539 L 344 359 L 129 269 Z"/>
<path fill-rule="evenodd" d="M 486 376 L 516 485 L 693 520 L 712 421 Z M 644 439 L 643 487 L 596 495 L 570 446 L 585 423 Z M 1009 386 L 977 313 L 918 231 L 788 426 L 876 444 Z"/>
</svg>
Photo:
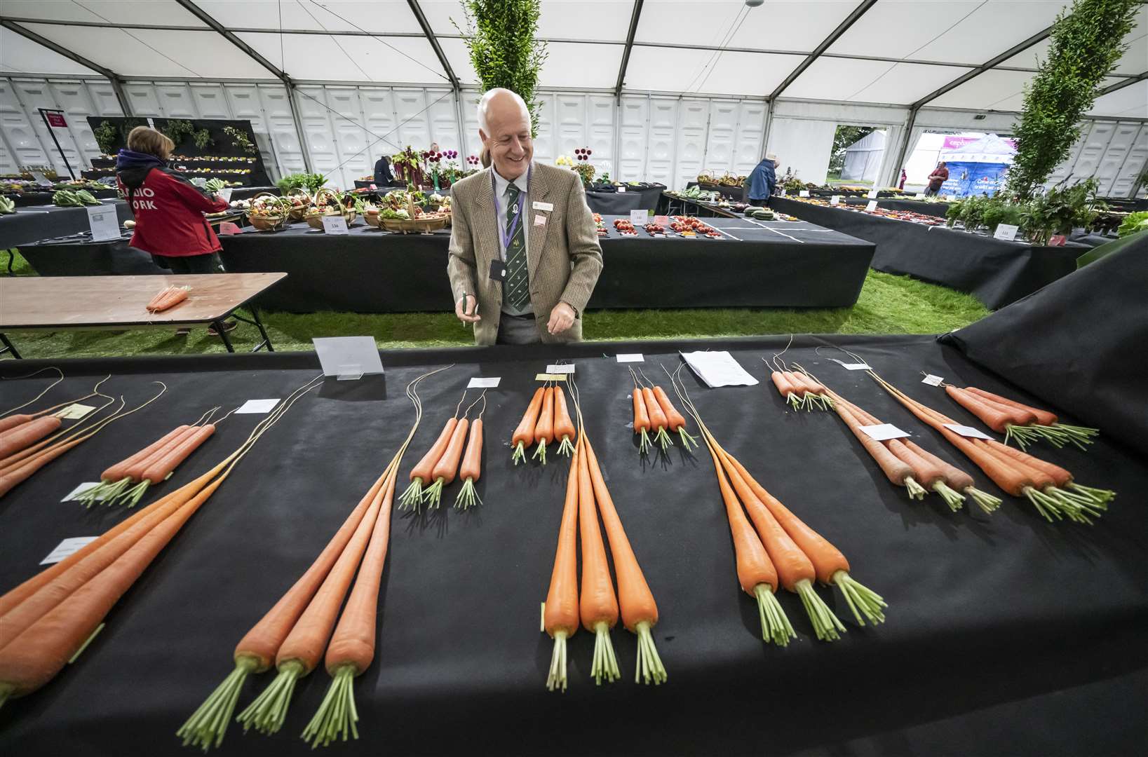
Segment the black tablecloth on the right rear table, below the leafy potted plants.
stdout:
<svg viewBox="0 0 1148 757">
<path fill-rule="evenodd" d="M 967 291 L 996 310 L 1076 271 L 1084 245 L 1037 247 L 773 197 L 770 208 L 877 245 L 872 267 Z"/>
</svg>

